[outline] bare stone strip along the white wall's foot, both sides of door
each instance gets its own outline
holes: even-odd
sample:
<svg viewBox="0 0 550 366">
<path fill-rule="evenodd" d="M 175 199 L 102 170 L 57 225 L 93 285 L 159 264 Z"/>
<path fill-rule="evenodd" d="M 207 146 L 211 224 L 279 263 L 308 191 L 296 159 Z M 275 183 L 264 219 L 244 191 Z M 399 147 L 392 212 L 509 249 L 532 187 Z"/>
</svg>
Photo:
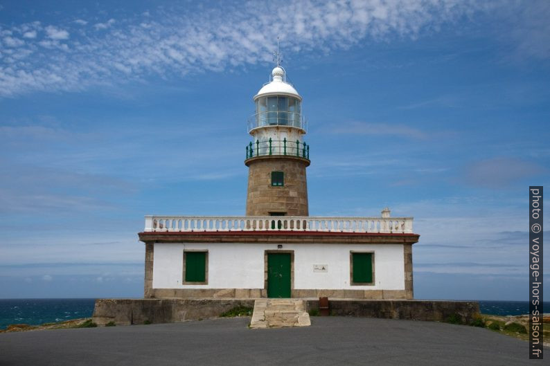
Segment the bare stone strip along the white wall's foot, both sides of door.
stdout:
<svg viewBox="0 0 550 366">
<path fill-rule="evenodd" d="M 157 299 L 257 299 L 267 298 L 266 289 L 150 289 L 152 298 Z M 292 298 L 337 298 L 357 300 L 412 299 L 408 290 L 323 290 L 292 289 Z"/>
</svg>

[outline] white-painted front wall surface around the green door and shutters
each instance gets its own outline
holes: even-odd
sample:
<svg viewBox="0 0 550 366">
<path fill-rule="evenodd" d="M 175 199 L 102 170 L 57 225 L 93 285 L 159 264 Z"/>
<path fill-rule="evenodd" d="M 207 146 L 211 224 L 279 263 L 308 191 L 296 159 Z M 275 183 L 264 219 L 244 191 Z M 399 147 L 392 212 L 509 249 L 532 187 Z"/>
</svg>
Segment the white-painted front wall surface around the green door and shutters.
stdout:
<svg viewBox="0 0 550 366">
<path fill-rule="evenodd" d="M 209 251 L 209 283 L 182 285 L 184 249 Z M 263 289 L 264 251 L 277 244 L 154 244 L 154 289 Z M 399 244 L 283 244 L 294 250 L 294 289 L 404 290 L 403 246 Z M 350 251 L 373 251 L 375 284 L 350 285 Z M 328 272 L 314 272 L 316 264 Z"/>
</svg>

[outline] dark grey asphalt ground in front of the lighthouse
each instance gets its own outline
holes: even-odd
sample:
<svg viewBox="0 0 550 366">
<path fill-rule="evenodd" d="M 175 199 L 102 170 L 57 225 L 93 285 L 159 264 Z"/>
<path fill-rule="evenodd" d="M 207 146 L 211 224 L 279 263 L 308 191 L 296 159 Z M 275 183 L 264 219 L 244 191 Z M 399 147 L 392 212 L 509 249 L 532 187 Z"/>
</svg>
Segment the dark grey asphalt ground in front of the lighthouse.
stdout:
<svg viewBox="0 0 550 366">
<path fill-rule="evenodd" d="M 248 329 L 249 318 L 233 318 L 1 333 L 0 365 L 529 364 L 527 342 L 487 329 L 411 320 L 311 320 L 311 327 L 284 329 Z"/>
</svg>

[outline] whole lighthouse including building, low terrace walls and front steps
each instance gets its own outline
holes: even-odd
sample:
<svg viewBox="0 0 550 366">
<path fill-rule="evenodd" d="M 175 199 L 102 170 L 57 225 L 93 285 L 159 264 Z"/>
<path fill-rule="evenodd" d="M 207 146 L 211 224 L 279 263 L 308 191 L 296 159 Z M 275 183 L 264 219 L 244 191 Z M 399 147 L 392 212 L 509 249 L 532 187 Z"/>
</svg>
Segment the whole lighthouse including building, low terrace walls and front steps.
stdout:
<svg viewBox="0 0 550 366">
<path fill-rule="evenodd" d="M 253 100 L 246 216 L 145 216 L 145 300 L 98 300 L 96 323 L 180 322 L 254 306 L 251 327 L 280 327 L 281 319 L 305 324 L 305 309 L 321 304 L 312 298 L 329 298 L 338 315 L 441 320 L 479 311 L 470 302 L 402 301 L 414 298 L 412 217 L 389 208 L 309 215 L 303 100 L 280 62 Z"/>
</svg>

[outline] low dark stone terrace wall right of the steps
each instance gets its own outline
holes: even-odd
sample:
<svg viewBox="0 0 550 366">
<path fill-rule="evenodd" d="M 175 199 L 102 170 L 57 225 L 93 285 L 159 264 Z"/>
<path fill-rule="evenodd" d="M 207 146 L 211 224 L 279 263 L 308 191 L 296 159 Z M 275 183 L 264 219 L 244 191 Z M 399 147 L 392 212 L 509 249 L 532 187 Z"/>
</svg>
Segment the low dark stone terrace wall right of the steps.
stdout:
<svg viewBox="0 0 550 366">
<path fill-rule="evenodd" d="M 458 314 L 470 322 L 479 314 L 479 304 L 473 301 L 434 300 L 329 300 L 330 315 L 361 318 L 408 319 L 441 322 Z M 319 309 L 319 300 L 308 300 L 307 309 Z"/>
</svg>

